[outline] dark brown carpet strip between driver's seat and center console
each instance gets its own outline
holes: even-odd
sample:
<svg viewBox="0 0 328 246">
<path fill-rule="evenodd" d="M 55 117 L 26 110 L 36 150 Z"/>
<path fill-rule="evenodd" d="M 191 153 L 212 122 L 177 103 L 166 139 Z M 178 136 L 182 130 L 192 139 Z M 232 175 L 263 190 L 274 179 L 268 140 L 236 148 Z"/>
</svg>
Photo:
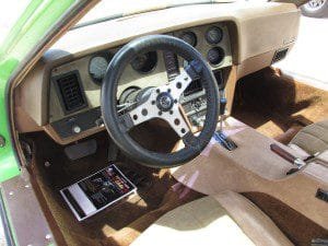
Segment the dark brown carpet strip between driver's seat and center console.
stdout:
<svg viewBox="0 0 328 246">
<path fill-rule="evenodd" d="M 276 198 L 261 192 L 245 192 L 297 246 L 308 246 L 313 238 L 328 238 L 328 231 Z"/>
</svg>

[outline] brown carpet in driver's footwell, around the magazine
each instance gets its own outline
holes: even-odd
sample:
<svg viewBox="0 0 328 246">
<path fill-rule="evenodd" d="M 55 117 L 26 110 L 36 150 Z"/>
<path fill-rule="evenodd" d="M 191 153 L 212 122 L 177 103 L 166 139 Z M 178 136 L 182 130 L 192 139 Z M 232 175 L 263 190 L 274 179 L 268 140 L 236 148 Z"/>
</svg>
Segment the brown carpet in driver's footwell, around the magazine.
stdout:
<svg viewBox="0 0 328 246">
<path fill-rule="evenodd" d="M 45 132 L 23 138 L 34 142 L 34 160 L 30 168 L 35 179 L 34 187 L 61 244 L 66 241 L 68 245 L 128 245 L 165 212 L 201 197 L 177 184 L 167 169 L 144 167 L 120 154 L 117 166 L 124 172 L 130 169 L 147 177 L 151 185 L 139 188 L 138 195 L 128 200 L 78 222 L 59 190 L 108 165 L 107 133 L 104 131 L 93 137 L 98 143 L 95 154 L 77 161 L 70 161 L 63 147 Z M 50 165 L 46 167 L 45 162 Z"/>
</svg>

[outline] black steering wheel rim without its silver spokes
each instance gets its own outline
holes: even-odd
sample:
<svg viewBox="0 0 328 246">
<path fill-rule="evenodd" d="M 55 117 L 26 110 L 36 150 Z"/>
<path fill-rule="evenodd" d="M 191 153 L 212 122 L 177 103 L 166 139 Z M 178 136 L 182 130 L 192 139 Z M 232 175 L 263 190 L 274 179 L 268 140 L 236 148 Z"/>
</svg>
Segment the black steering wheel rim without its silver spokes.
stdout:
<svg viewBox="0 0 328 246">
<path fill-rule="evenodd" d="M 138 55 L 153 50 L 174 51 L 189 62 L 197 61 L 201 67 L 200 75 L 207 95 L 204 125 L 198 137 L 190 137 L 190 141 L 185 141 L 186 147 L 174 153 L 156 153 L 142 148 L 122 129 L 117 113 L 117 86 L 126 66 Z M 172 36 L 149 35 L 130 42 L 114 56 L 103 81 L 101 104 L 109 136 L 128 156 L 151 167 L 174 167 L 195 159 L 211 140 L 216 129 L 219 91 L 211 69 L 192 46 Z"/>
</svg>

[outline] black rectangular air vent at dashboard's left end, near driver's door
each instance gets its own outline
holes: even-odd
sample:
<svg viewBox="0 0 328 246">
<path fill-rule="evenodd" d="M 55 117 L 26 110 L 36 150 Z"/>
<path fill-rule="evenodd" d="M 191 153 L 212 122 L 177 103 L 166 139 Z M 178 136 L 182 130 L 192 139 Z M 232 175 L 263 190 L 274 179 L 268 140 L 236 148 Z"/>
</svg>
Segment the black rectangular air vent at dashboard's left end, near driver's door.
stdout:
<svg viewBox="0 0 328 246">
<path fill-rule="evenodd" d="M 57 77 L 55 80 L 67 114 L 87 106 L 78 71 Z"/>
</svg>

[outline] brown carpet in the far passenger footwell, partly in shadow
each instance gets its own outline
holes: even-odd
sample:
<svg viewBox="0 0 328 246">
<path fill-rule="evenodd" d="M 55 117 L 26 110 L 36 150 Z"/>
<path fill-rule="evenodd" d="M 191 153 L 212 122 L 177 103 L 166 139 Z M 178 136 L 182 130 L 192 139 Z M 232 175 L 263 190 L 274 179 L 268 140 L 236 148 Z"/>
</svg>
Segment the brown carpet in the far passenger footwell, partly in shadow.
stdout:
<svg viewBox="0 0 328 246">
<path fill-rule="evenodd" d="M 328 116 L 328 91 L 283 77 L 266 68 L 237 82 L 232 116 L 276 138 L 291 127 Z"/>
</svg>

